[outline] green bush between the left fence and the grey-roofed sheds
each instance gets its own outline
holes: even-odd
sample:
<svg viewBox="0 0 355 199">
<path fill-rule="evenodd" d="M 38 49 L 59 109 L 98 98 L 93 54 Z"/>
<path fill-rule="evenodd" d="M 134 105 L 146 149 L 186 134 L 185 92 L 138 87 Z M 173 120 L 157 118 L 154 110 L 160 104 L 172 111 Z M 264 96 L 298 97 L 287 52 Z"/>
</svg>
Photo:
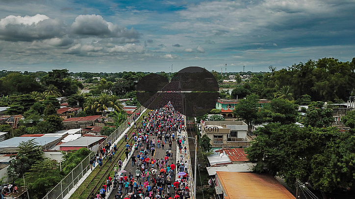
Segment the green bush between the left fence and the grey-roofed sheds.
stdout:
<svg viewBox="0 0 355 199">
<path fill-rule="evenodd" d="M 91 153 L 87 148 L 80 148 L 76 151 L 62 152 L 62 171 L 65 174 L 71 172 L 86 156 Z"/>
</svg>

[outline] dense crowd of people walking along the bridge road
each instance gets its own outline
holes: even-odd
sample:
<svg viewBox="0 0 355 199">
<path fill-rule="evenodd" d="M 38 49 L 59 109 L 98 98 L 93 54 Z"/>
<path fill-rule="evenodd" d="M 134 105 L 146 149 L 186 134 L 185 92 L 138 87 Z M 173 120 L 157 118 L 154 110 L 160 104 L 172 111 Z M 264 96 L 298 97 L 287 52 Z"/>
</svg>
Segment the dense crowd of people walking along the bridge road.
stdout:
<svg viewBox="0 0 355 199">
<path fill-rule="evenodd" d="M 93 194 L 92 199 L 105 199 L 107 191 L 116 188 L 115 199 L 189 199 L 188 163 L 183 162 L 183 155 L 180 155 L 174 164 L 172 150 L 177 144 L 180 154 L 184 150 L 186 155 L 187 148 L 183 148 L 185 138 L 179 136 L 184 125 L 182 114 L 170 102 L 159 110 L 149 111 L 141 121 L 141 127 L 135 125 L 134 143 L 126 144 L 126 159 L 133 153 L 130 160 L 135 172 L 120 172 L 123 161 L 119 159 L 115 162 L 114 176 L 106 179 L 100 192 Z M 117 149 L 111 147 L 110 140 L 106 145 L 97 156 L 99 159 L 107 157 L 110 161 Z M 160 148 L 165 153 L 156 157 L 155 151 Z"/>
</svg>

